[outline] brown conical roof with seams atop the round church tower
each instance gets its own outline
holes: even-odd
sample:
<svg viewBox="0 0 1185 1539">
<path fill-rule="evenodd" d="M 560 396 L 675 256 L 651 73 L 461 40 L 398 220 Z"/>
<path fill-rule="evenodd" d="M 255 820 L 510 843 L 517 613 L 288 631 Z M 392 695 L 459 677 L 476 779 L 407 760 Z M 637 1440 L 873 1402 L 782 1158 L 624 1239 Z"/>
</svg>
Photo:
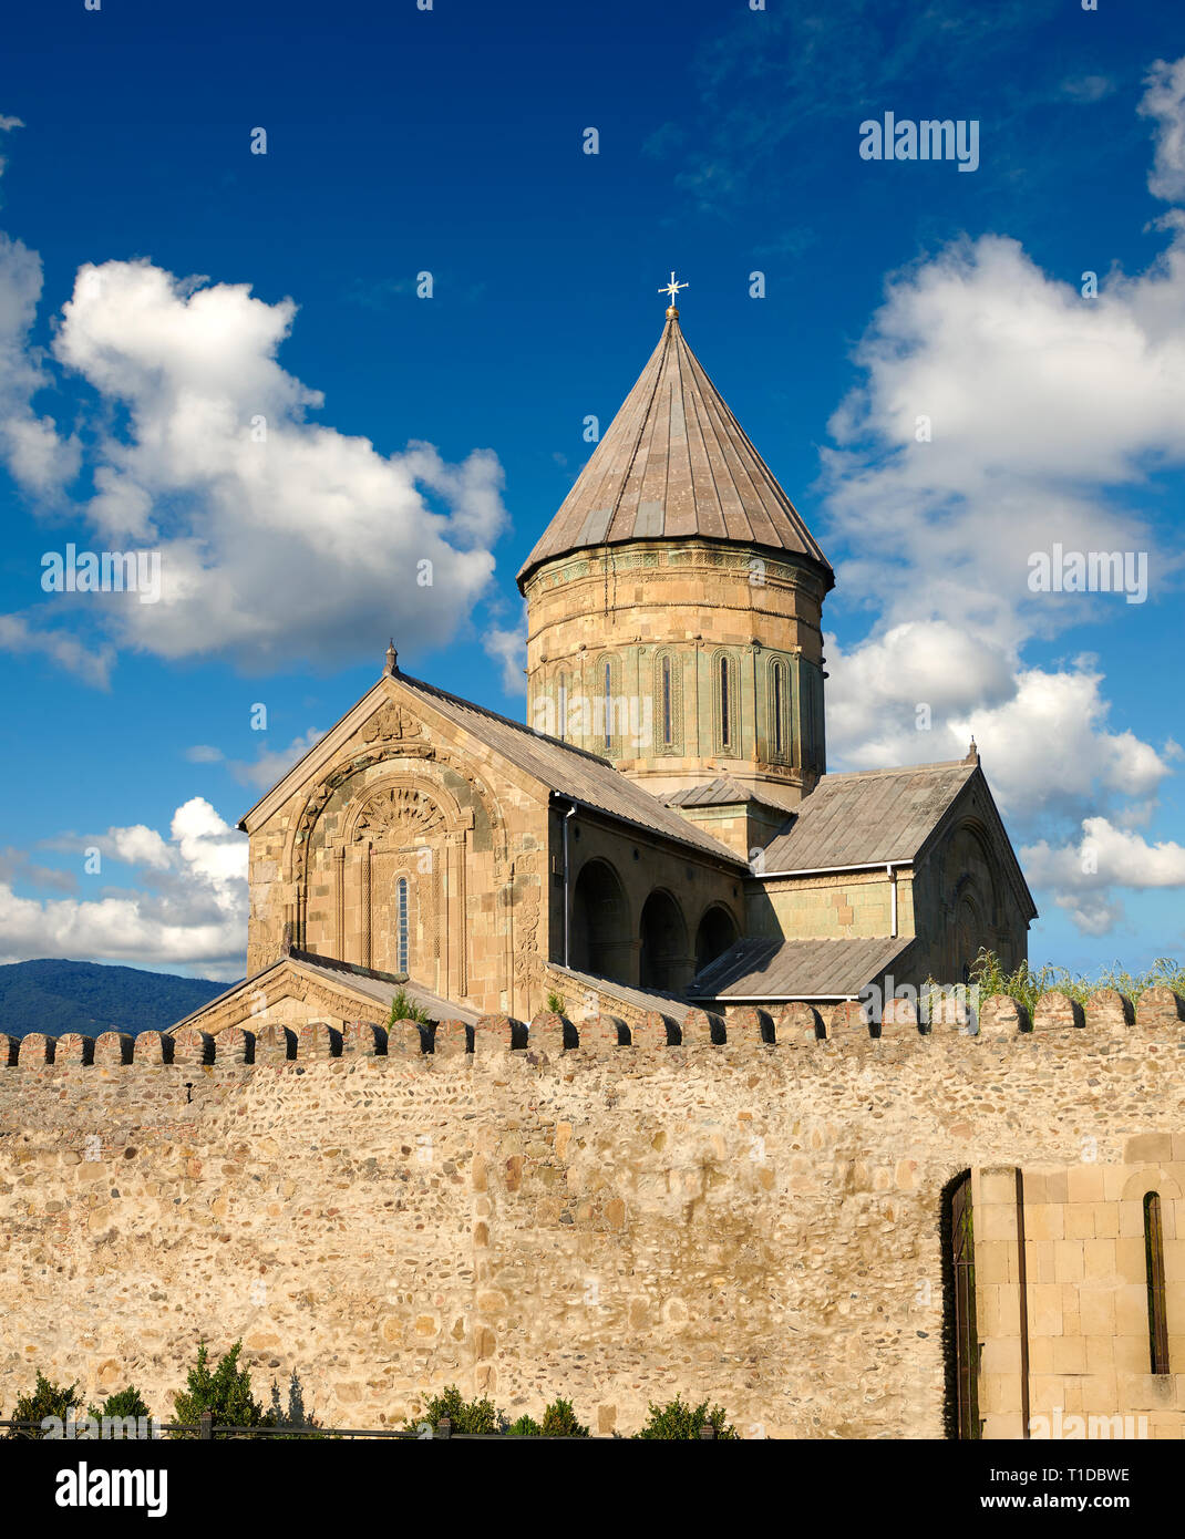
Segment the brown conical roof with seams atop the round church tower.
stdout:
<svg viewBox="0 0 1185 1539">
<path fill-rule="evenodd" d="M 831 566 L 668 311 L 659 346 L 519 571 L 594 545 L 736 540 Z M 830 586 L 830 582 L 828 582 Z"/>
</svg>

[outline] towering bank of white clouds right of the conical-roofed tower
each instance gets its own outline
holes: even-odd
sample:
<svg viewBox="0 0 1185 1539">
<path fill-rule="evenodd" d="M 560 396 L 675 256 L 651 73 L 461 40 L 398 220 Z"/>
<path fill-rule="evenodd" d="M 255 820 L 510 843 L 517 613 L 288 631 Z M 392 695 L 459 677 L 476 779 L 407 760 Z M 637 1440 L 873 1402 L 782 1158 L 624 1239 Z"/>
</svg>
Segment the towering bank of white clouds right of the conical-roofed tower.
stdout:
<svg viewBox="0 0 1185 1539">
<path fill-rule="evenodd" d="M 1157 122 L 1160 197 L 1185 195 L 1182 102 L 1185 60 L 1154 66 L 1142 111 Z M 1160 259 L 1139 275 L 1100 274 L 1094 299 L 1003 235 L 957 240 L 888 283 L 823 456 L 831 528 L 854 553 L 839 591 L 873 614 L 857 645 L 828 639 L 842 763 L 956 759 L 974 733 L 1022 833 L 1037 819 L 1103 819 L 1137 840 L 1131 825 L 1154 816 L 1174 745 L 1111 723 L 1096 659 L 1039 668 L 1026 651 L 1108 613 L 1130 617 L 1119 594 L 1034 593 L 1033 559 L 1056 543 L 1147 551 L 1153 600 L 1179 583 L 1180 553 L 1123 500 L 1185 463 L 1185 215 L 1163 228 Z M 1088 890 L 1051 890 L 1100 934 L 1134 863 L 1113 860 Z M 1059 871 L 1039 859 L 1033 879 Z"/>
</svg>

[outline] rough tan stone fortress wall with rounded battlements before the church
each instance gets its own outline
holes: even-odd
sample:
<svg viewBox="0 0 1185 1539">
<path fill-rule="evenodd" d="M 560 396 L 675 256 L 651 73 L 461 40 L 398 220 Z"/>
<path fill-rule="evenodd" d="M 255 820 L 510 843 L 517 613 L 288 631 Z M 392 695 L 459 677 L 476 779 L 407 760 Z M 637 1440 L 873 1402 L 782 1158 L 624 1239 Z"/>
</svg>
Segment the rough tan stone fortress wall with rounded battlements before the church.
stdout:
<svg viewBox="0 0 1185 1539">
<path fill-rule="evenodd" d="M 693 1011 L 685 1045 L 599 1017 L 566 1051 L 554 1016 L 519 1050 L 486 1017 L 472 1053 L 405 1025 L 332 1057 L 305 1028 L 255 1065 L 237 1030 L 172 1065 L 159 1039 L 131 1063 L 23 1045 L 0 1065 L 0 1400 L 42 1368 L 166 1411 L 205 1333 L 243 1337 L 257 1388 L 295 1368 L 337 1425 L 456 1380 L 516 1414 L 563 1394 L 594 1431 L 683 1391 L 749 1436 L 940 1436 L 942 1188 L 1120 1165 L 1148 1134 L 1185 1159 L 1180 1007 L 879 1040 L 851 1013 L 820 1040 L 803 1010 L 776 1043 L 756 1011 L 723 1043 Z"/>
</svg>

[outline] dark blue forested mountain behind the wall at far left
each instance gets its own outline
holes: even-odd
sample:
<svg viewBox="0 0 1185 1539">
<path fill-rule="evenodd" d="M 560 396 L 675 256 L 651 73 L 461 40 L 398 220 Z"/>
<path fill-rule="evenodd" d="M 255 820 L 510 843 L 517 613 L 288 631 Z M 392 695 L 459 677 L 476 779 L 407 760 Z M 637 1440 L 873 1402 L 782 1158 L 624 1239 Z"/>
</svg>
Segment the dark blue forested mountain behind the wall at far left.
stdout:
<svg viewBox="0 0 1185 1539">
<path fill-rule="evenodd" d="M 0 966 L 0 1031 L 160 1031 L 222 994 L 208 977 L 145 973 L 100 962 L 9 962 Z"/>
</svg>

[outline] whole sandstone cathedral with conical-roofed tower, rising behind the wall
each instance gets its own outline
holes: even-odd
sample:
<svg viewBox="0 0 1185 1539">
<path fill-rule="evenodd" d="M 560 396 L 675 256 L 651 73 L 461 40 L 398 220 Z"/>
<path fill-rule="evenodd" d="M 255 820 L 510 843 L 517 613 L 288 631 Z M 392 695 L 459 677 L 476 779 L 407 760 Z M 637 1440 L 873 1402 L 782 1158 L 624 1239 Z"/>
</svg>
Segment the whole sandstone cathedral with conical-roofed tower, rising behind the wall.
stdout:
<svg viewBox="0 0 1185 1539">
<path fill-rule="evenodd" d="M 179 1025 L 823 1008 L 1026 954 L 971 745 L 828 774 L 834 574 L 688 346 L 657 348 L 519 573 L 526 723 L 382 676 L 242 819 L 248 976 Z M 174 1028 L 175 1030 L 175 1028 Z"/>
</svg>

